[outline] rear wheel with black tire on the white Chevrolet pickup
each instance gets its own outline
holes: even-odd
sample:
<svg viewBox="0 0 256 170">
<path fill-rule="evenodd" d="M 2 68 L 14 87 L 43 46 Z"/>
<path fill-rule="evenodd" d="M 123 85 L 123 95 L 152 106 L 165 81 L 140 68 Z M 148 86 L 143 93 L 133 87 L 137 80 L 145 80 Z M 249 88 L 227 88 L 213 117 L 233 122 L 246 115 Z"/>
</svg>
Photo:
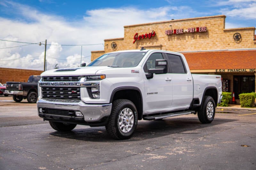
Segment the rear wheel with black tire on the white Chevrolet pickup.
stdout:
<svg viewBox="0 0 256 170">
<path fill-rule="evenodd" d="M 204 96 L 202 109 L 197 116 L 201 123 L 211 123 L 215 116 L 215 102 L 211 96 Z"/>
</svg>

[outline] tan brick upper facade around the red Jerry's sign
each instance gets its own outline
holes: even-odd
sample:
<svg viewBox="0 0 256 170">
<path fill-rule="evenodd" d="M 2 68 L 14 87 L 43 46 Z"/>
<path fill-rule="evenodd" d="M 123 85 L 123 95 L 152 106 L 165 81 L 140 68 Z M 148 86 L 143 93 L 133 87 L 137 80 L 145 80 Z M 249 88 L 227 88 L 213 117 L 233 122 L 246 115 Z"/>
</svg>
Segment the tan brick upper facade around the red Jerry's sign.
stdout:
<svg viewBox="0 0 256 170">
<path fill-rule="evenodd" d="M 198 17 L 187 19 L 175 19 L 154 23 L 124 26 L 124 38 L 108 39 L 105 41 L 104 52 L 140 49 L 163 49 L 168 51 L 201 51 L 201 50 L 220 50 L 237 48 L 256 48 L 254 38 L 254 27 L 225 29 L 225 15 Z M 188 29 L 192 27 L 206 26 L 207 32 L 182 33 L 166 35 L 165 30 Z M 137 40 L 133 44 L 135 33 L 139 35 L 150 33 L 154 30 L 156 35 L 151 39 L 144 38 Z M 240 33 L 241 42 L 234 41 L 233 35 Z M 117 48 L 111 48 L 111 43 L 116 42 Z M 92 52 L 91 60 L 99 55 Z"/>
</svg>

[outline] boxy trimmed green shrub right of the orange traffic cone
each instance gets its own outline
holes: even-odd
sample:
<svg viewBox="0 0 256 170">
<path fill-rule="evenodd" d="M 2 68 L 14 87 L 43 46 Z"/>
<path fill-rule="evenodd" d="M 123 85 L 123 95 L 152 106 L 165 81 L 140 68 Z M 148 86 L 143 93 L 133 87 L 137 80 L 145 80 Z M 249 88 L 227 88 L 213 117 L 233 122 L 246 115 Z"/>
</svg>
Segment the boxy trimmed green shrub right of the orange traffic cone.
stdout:
<svg viewBox="0 0 256 170">
<path fill-rule="evenodd" d="M 256 93 L 241 93 L 239 94 L 241 107 L 254 107 Z"/>
</svg>

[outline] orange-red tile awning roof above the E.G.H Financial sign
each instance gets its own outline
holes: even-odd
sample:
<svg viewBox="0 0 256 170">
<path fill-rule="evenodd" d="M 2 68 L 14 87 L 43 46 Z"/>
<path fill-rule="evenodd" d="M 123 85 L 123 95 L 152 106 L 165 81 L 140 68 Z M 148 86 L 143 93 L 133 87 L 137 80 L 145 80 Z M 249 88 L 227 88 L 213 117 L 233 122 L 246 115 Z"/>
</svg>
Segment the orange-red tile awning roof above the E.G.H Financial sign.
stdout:
<svg viewBox="0 0 256 170">
<path fill-rule="evenodd" d="M 256 50 L 183 53 L 190 70 L 255 69 Z"/>
</svg>

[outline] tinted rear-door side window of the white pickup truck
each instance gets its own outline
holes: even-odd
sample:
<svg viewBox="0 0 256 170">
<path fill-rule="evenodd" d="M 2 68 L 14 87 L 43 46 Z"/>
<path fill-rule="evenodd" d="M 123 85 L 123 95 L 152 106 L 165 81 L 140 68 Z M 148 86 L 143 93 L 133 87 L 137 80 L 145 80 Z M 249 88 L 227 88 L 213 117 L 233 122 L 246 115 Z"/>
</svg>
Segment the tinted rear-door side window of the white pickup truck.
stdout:
<svg viewBox="0 0 256 170">
<path fill-rule="evenodd" d="M 171 73 L 186 73 L 184 64 L 179 55 L 167 54 L 168 64 L 171 67 Z"/>
</svg>

